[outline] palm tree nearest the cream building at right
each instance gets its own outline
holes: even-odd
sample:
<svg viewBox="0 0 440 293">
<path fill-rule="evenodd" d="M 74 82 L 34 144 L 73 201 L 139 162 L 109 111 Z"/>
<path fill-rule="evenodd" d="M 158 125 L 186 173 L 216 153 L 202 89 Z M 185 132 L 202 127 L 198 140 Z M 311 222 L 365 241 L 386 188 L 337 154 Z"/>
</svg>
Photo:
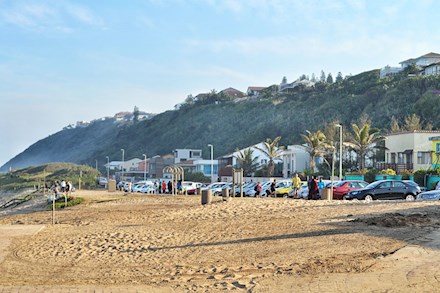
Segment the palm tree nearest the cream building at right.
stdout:
<svg viewBox="0 0 440 293">
<path fill-rule="evenodd" d="M 357 154 L 359 170 L 365 167 L 365 156 L 377 146 L 377 142 L 385 137 L 379 134 L 379 129 L 370 128 L 370 123 L 364 123 L 362 127 L 352 124 L 353 136 L 350 142 L 344 144 L 351 147 Z"/>
</svg>

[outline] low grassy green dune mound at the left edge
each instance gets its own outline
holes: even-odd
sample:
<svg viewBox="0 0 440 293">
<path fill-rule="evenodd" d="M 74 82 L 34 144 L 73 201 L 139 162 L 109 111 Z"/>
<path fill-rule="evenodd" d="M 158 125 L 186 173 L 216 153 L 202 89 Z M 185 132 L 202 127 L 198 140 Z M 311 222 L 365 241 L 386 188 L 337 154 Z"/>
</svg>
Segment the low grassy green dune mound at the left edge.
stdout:
<svg viewBox="0 0 440 293">
<path fill-rule="evenodd" d="M 98 171 L 89 166 L 50 163 L 0 174 L 0 190 L 34 188 L 44 186 L 45 182 L 50 186 L 51 182 L 57 180 L 71 181 L 74 186 L 78 187 L 80 179 L 82 188 L 90 188 L 96 186 L 97 176 Z"/>
</svg>

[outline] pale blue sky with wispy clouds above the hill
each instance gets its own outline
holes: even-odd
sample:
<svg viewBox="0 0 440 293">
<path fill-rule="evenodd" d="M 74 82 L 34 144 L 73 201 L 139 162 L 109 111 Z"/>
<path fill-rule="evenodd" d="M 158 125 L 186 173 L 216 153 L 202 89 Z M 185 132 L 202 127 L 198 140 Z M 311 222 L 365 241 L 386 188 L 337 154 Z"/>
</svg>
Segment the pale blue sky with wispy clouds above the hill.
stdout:
<svg viewBox="0 0 440 293">
<path fill-rule="evenodd" d="M 0 165 L 79 120 L 440 53 L 440 1 L 0 0 Z"/>
</svg>

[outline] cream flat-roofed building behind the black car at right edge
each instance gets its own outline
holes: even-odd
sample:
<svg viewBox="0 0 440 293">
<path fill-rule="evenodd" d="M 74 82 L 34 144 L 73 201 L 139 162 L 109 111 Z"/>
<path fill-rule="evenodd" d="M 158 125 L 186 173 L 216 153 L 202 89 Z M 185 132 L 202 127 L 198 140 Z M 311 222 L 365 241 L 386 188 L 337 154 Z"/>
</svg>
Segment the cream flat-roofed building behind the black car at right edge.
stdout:
<svg viewBox="0 0 440 293">
<path fill-rule="evenodd" d="M 385 162 L 376 164 L 377 169 L 417 171 L 432 164 L 430 138 L 440 136 L 440 131 L 415 130 L 392 133 L 385 139 Z"/>
</svg>

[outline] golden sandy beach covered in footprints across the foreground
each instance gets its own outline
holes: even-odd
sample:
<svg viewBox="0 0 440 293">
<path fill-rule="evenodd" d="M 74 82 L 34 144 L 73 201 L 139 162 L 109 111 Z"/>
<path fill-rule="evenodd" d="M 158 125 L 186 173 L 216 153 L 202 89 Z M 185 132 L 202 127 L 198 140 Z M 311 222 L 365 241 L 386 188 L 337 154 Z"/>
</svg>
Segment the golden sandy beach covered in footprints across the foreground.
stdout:
<svg viewBox="0 0 440 293">
<path fill-rule="evenodd" d="M 304 201 L 77 191 L 55 213 L 3 213 L 0 285 L 137 292 L 429 292 L 437 202 Z M 1 229 L 30 227 L 30 233 Z M 33 227 L 33 229 L 32 229 Z"/>
</svg>

